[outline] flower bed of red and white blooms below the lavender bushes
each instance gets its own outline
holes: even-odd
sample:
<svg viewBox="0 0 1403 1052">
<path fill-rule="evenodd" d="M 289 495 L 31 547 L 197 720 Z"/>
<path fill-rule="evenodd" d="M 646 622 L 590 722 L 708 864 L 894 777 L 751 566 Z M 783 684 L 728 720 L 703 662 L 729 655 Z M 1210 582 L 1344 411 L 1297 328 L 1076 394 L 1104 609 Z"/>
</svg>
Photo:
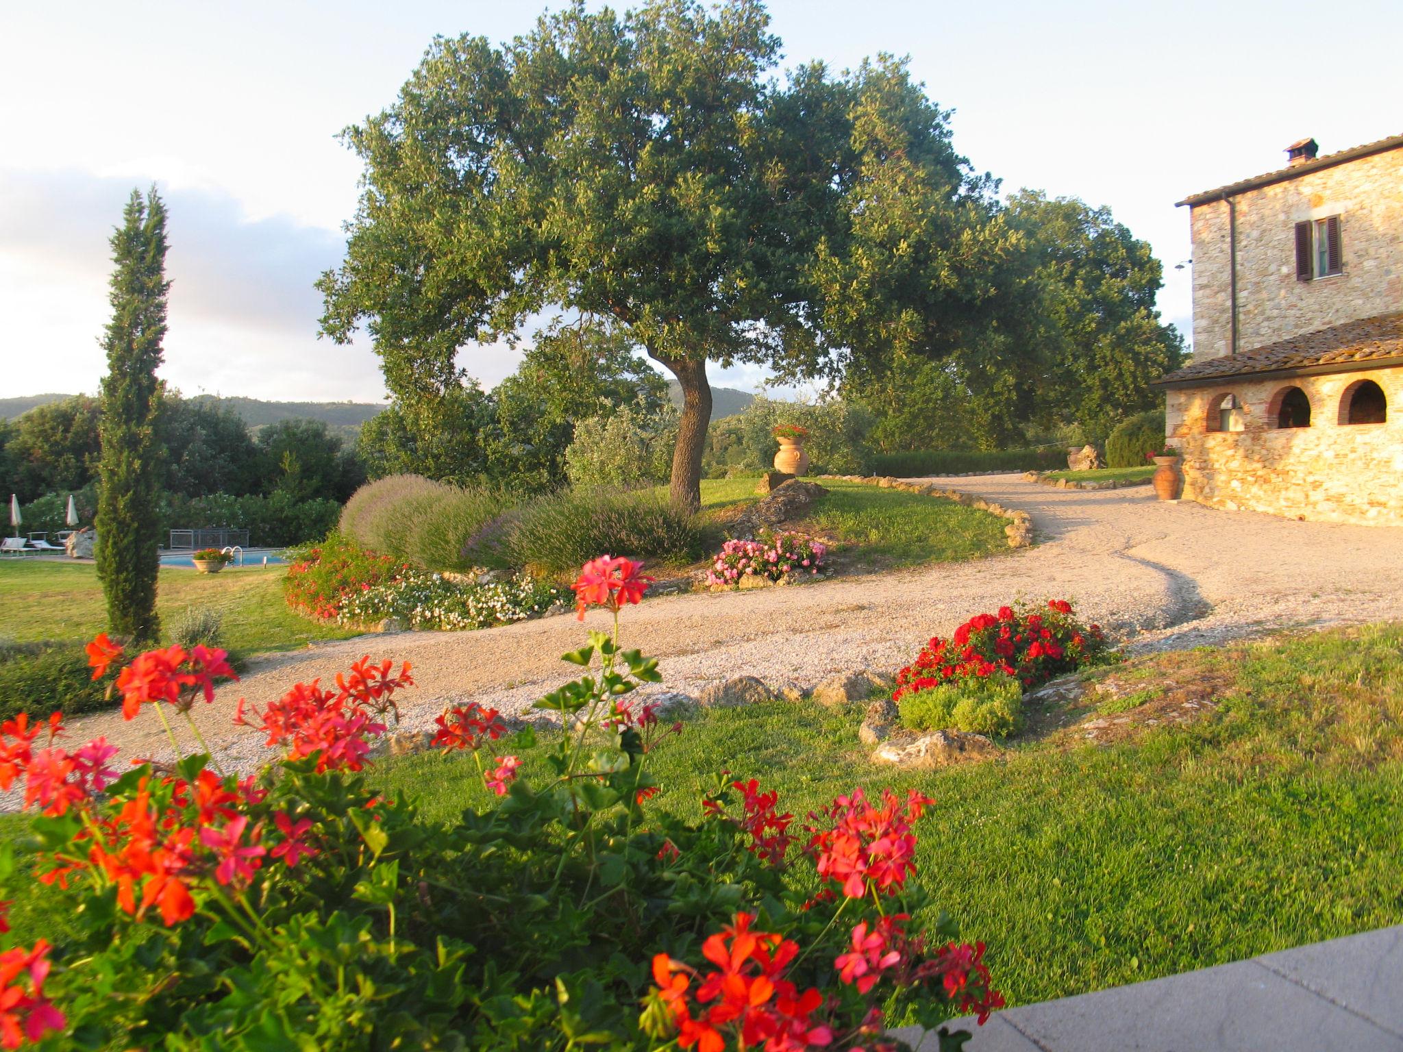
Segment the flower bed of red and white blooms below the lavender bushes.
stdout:
<svg viewBox="0 0 1403 1052">
<path fill-rule="evenodd" d="M 333 534 L 293 557 L 283 585 L 289 606 L 338 624 L 398 619 L 410 628 L 487 628 L 539 617 L 565 592 L 525 574 L 474 584 L 415 569 Z"/>
</svg>

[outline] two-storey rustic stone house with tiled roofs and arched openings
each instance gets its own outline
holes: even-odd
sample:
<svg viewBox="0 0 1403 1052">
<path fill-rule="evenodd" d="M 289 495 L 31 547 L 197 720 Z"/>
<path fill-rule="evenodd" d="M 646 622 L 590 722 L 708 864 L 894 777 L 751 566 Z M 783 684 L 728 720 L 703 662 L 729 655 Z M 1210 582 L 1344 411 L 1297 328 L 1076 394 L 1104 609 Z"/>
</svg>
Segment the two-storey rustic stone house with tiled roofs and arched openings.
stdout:
<svg viewBox="0 0 1403 1052">
<path fill-rule="evenodd" d="M 1195 194 L 1194 356 L 1159 380 L 1184 498 L 1403 525 L 1403 136 Z"/>
</svg>

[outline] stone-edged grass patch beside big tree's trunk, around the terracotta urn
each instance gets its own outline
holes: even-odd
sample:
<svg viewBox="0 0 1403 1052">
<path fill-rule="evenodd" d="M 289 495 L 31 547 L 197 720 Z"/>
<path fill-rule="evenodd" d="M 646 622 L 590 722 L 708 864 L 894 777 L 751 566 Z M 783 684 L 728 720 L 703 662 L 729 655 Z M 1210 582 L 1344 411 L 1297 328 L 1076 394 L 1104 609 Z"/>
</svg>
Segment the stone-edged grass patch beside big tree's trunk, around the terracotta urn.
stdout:
<svg viewBox="0 0 1403 1052">
<path fill-rule="evenodd" d="M 702 483 L 702 513 L 716 515 L 760 499 L 756 478 Z M 882 490 L 864 483 L 814 480 L 825 490 L 803 529 L 836 537 L 847 561 L 864 568 L 899 568 L 922 562 L 979 558 L 1007 550 L 1005 520 L 951 501 Z"/>
</svg>

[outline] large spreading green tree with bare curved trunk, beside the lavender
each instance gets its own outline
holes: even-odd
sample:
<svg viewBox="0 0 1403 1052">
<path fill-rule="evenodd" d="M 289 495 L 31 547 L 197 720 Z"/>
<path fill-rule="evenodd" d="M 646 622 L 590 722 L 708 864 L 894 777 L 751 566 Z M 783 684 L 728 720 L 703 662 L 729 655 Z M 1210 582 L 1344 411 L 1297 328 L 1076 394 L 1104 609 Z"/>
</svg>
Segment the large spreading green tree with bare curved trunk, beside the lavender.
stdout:
<svg viewBox="0 0 1403 1052">
<path fill-rule="evenodd" d="M 680 386 L 671 485 L 690 506 L 709 360 L 797 376 L 892 341 L 947 353 L 1016 241 L 991 184 L 904 63 L 777 83 L 767 27 L 759 0 L 574 3 L 502 48 L 436 39 L 347 130 L 365 192 L 323 332 L 365 324 L 418 426 L 414 407 L 456 397 L 462 346 L 550 307 L 607 318 Z"/>
</svg>

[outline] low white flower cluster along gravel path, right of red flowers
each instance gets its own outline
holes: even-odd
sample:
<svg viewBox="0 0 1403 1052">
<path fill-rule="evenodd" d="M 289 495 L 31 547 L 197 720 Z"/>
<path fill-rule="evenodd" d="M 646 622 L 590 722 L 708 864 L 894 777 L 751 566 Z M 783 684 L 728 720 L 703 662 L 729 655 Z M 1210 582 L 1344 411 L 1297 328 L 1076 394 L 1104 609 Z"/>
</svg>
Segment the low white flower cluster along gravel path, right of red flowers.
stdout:
<svg viewBox="0 0 1403 1052">
<path fill-rule="evenodd" d="M 518 574 L 487 585 L 459 584 L 438 574 L 405 572 L 341 602 L 341 624 L 370 624 L 398 617 L 410 628 L 488 628 L 540 617 L 565 602 L 565 589 Z"/>
</svg>

